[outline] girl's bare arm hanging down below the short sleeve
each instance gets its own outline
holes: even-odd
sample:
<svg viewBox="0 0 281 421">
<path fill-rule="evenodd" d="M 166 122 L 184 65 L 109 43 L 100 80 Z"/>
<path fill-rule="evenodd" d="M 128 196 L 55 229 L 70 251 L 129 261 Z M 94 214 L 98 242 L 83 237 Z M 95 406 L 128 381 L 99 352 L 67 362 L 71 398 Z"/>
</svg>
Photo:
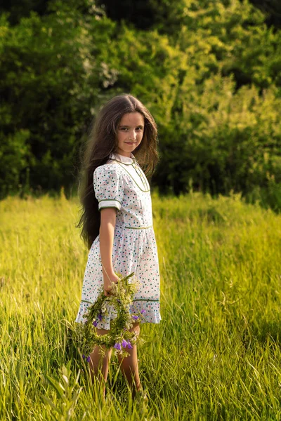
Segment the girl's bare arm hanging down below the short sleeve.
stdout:
<svg viewBox="0 0 281 421">
<path fill-rule="evenodd" d="M 103 283 L 106 296 L 110 295 L 111 282 L 119 279 L 112 265 L 116 212 L 116 208 L 100 209 L 100 258 L 103 263 Z"/>
</svg>

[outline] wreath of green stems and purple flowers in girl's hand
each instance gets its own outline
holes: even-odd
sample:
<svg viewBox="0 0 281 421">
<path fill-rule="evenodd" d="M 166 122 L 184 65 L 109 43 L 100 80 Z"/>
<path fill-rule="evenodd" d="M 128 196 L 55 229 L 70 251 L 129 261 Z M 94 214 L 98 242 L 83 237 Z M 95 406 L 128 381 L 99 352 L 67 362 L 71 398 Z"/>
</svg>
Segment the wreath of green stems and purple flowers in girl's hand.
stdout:
<svg viewBox="0 0 281 421">
<path fill-rule="evenodd" d="M 133 322 L 144 319 L 143 314 L 145 310 L 133 314 L 129 312 L 133 296 L 139 288 L 139 283 L 138 281 L 129 282 L 134 272 L 124 277 L 122 277 L 122 274 L 116 274 L 119 280 L 117 283 L 112 282 L 111 284 L 110 293 L 112 295 L 105 296 L 102 288 L 96 302 L 89 307 L 83 316 L 86 321 L 79 326 L 81 333 L 80 349 L 83 353 L 83 358 L 88 362 L 90 361 L 89 354 L 91 354 L 96 345 L 105 345 L 106 349 L 114 348 L 117 354 L 127 356 L 129 353 L 126 349 L 132 349 L 136 343 L 143 342 L 134 332 L 130 332 Z M 104 316 L 108 314 L 108 305 L 112 307 L 116 317 L 110 321 L 109 333 L 98 335 L 96 326 L 98 320 L 102 321 Z M 101 352 L 104 352 L 102 348 Z"/>
</svg>

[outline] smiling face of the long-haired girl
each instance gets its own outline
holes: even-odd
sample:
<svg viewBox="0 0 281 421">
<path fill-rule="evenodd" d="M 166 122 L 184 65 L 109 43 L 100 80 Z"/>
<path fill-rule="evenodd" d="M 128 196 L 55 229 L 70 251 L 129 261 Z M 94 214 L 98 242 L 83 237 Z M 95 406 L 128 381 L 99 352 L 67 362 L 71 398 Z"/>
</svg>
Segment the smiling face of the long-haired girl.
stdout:
<svg viewBox="0 0 281 421">
<path fill-rule="evenodd" d="M 143 139 L 145 119 L 139 112 L 129 112 L 122 116 L 117 129 L 117 154 L 129 156 Z"/>
</svg>

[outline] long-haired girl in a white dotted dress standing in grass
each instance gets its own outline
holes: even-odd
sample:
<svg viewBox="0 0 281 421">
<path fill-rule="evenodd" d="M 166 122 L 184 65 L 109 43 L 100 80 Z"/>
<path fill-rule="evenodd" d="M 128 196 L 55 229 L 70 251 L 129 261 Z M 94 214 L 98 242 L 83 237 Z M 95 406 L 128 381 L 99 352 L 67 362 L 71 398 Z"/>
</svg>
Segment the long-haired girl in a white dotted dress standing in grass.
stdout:
<svg viewBox="0 0 281 421">
<path fill-rule="evenodd" d="M 159 323 L 159 263 L 152 226 L 150 186 L 145 173 L 152 174 L 157 163 L 157 126 L 144 105 L 131 95 L 118 95 L 101 109 L 84 154 L 81 188 L 83 213 L 78 227 L 90 248 L 81 304 L 76 321 L 96 301 L 100 287 L 106 296 L 110 285 L 135 273 L 140 288 L 130 312 L 142 312 L 143 322 Z M 143 173 L 142 168 L 145 173 Z M 97 333 L 110 329 L 114 314 L 98 321 Z M 140 324 L 133 323 L 139 335 Z M 112 349 L 90 355 L 91 377 L 103 375 L 106 382 Z M 136 345 L 129 356 L 120 357 L 122 373 L 135 396 L 141 391 Z M 105 396 L 105 387 L 103 389 Z"/>
</svg>

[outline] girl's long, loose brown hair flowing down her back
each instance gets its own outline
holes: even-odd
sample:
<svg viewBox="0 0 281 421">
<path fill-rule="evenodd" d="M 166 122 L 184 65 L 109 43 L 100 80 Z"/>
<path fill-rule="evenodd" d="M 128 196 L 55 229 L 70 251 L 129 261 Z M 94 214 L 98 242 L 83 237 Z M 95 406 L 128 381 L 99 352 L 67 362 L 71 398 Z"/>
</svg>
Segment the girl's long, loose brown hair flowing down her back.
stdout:
<svg viewBox="0 0 281 421">
<path fill-rule="evenodd" d="M 158 161 L 155 120 L 141 101 L 132 95 L 115 96 L 100 109 L 96 121 L 92 123 L 81 163 L 79 198 L 82 213 L 77 228 L 81 228 L 81 237 L 88 248 L 91 248 L 100 229 L 100 211 L 93 191 L 93 172 L 106 163 L 112 152 L 117 152 L 118 126 L 122 116 L 130 112 L 139 112 L 145 121 L 143 139 L 133 155 L 146 175 L 151 176 L 155 171 Z"/>
</svg>

